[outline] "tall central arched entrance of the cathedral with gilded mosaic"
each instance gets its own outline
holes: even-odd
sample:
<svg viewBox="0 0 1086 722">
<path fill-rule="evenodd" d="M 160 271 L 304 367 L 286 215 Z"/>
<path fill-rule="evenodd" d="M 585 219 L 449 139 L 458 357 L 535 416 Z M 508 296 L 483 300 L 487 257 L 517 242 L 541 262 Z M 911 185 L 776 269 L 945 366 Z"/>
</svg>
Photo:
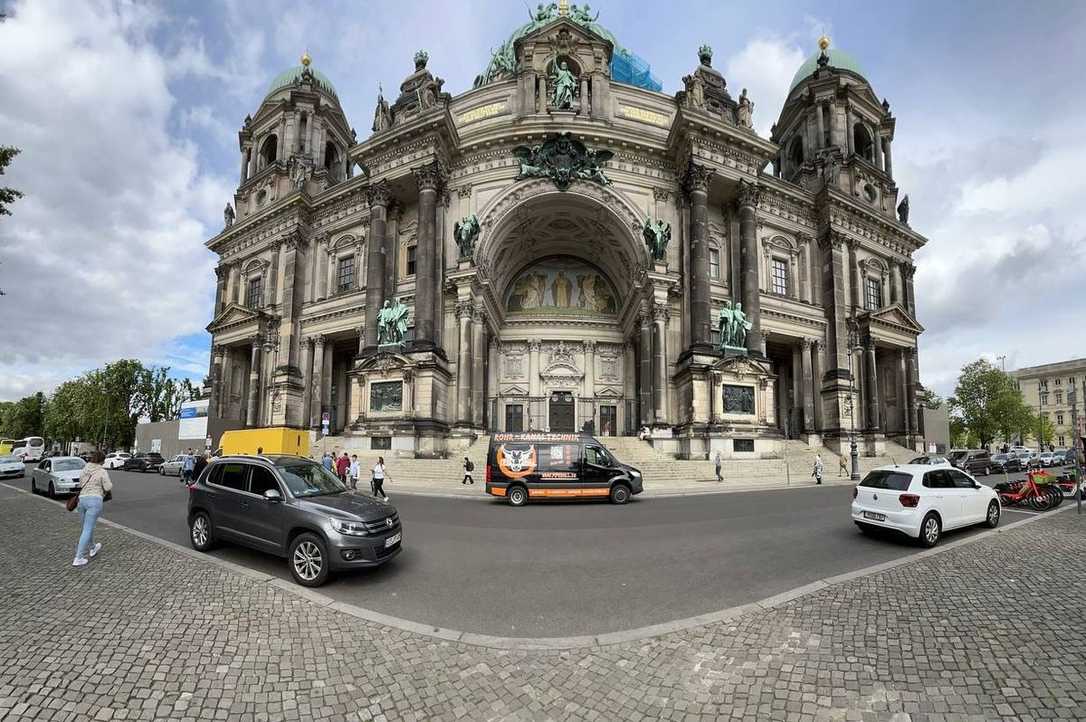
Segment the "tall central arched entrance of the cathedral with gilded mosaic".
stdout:
<svg viewBox="0 0 1086 722">
<path fill-rule="evenodd" d="M 498 199 L 482 215 L 477 263 L 497 308 L 491 430 L 617 435 L 639 426 L 640 220 L 614 191 L 581 186 L 523 183 L 517 202 Z"/>
</svg>

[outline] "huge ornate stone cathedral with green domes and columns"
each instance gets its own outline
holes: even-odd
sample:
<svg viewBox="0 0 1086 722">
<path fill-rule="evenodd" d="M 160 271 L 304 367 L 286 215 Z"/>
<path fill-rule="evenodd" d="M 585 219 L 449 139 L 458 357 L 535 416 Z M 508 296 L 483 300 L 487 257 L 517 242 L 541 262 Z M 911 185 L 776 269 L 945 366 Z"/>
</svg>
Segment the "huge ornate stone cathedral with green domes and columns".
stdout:
<svg viewBox="0 0 1086 722">
<path fill-rule="evenodd" d="M 917 448 L 889 103 L 823 37 L 765 138 L 691 55 L 667 94 L 586 5 L 539 5 L 459 94 L 417 52 L 362 137 L 304 55 L 207 241 L 210 415 L 422 458 L 528 430 Z"/>
</svg>

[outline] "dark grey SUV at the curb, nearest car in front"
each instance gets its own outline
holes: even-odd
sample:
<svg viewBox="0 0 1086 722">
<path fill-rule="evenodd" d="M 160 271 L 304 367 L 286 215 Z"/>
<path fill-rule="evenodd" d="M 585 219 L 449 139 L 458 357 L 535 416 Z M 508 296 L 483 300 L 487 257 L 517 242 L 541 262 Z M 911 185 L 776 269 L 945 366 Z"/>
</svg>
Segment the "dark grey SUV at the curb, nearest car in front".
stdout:
<svg viewBox="0 0 1086 722">
<path fill-rule="evenodd" d="M 286 557 L 304 586 L 400 554 L 403 528 L 395 507 L 349 492 L 306 458 L 217 458 L 189 489 L 192 548 L 207 552 L 224 541 Z"/>
</svg>

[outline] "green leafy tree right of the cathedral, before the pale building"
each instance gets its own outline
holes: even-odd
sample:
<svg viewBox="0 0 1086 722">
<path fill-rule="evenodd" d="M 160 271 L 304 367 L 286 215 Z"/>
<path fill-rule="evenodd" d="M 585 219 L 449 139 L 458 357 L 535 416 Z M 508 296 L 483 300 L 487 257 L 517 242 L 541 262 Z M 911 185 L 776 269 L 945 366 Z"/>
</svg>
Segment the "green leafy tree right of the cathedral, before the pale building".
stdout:
<svg viewBox="0 0 1086 722">
<path fill-rule="evenodd" d="M 947 403 L 952 418 L 978 446 L 988 446 L 997 433 L 1010 439 L 1023 429 L 1036 428 L 1014 379 L 984 358 L 962 367 L 955 395 Z"/>
</svg>

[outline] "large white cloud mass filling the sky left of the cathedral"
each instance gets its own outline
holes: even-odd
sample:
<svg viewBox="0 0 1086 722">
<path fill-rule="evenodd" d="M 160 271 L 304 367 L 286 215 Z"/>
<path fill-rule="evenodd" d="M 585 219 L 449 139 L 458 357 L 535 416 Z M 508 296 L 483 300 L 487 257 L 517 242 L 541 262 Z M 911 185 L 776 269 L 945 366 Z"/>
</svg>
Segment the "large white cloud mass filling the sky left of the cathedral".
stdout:
<svg viewBox="0 0 1086 722">
<path fill-rule="evenodd" d="M 0 220 L 0 303 L 31 330 L 0 350 L 2 398 L 154 360 L 207 322 L 203 241 L 232 183 L 168 135 L 171 66 L 149 39 L 161 21 L 129 3 L 35 0 L 0 23 L 0 139 L 23 150 L 5 180 L 25 193 Z"/>
</svg>

